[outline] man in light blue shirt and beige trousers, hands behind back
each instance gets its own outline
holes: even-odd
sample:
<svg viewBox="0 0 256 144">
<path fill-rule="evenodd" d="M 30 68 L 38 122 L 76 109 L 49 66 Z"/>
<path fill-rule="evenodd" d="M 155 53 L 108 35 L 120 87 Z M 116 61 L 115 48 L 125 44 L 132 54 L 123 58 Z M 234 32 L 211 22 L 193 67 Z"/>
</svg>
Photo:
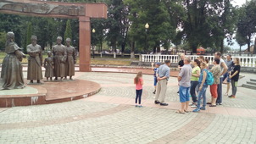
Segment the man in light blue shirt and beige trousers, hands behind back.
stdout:
<svg viewBox="0 0 256 144">
<path fill-rule="evenodd" d="M 168 106 L 168 103 L 164 102 L 165 93 L 167 90 L 167 83 L 170 77 L 170 60 L 165 60 L 164 65 L 159 66 L 158 71 L 158 86 L 157 86 L 157 95 L 155 97 L 155 104 L 161 106 Z"/>
</svg>

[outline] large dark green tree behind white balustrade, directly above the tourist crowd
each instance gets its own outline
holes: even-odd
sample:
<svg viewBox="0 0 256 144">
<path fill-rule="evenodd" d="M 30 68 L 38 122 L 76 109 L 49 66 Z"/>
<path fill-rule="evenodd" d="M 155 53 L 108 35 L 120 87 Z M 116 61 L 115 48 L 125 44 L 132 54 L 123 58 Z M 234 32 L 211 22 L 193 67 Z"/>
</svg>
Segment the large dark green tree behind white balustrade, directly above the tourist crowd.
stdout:
<svg viewBox="0 0 256 144">
<path fill-rule="evenodd" d="M 184 0 L 186 18 L 184 31 L 192 52 L 198 45 L 221 47 L 225 38 L 231 38 L 235 30 L 236 17 L 231 0 Z"/>
</svg>

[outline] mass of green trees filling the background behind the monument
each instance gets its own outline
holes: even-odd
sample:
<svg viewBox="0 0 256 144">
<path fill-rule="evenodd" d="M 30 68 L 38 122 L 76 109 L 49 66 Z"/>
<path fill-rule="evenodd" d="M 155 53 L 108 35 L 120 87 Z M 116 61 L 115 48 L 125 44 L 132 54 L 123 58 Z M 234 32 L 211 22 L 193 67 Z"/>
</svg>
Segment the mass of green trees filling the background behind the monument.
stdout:
<svg viewBox="0 0 256 144">
<path fill-rule="evenodd" d="M 48 0 L 49 1 L 49 0 Z M 55 1 L 55 0 L 52 0 Z M 224 40 L 231 45 L 233 33 L 237 42 L 248 47 L 256 32 L 256 4 L 250 1 L 242 8 L 231 5 L 232 0 L 58 0 L 69 3 L 107 3 L 108 19 L 91 19 L 92 44 L 101 47 L 108 43 L 113 50 L 131 49 L 131 53 L 169 49 L 170 43 L 196 51 L 198 46 L 224 50 Z M 237 16 L 238 15 L 238 16 Z M 52 47 L 57 36 L 70 37 L 79 47 L 78 19 L 53 19 L 0 14 L 0 42 L 3 34 L 14 31 L 19 47 L 27 45 L 27 29 L 31 23 L 38 44 Z M 148 30 L 145 25 L 148 23 Z M 237 24 L 237 25 L 236 25 Z M 236 31 L 237 30 L 237 31 Z M 186 44 L 186 45 L 184 45 Z M 127 48 L 128 47 L 128 48 Z M 3 48 L 3 46 L 0 46 Z M 129 51 L 127 51 L 129 52 Z"/>
</svg>

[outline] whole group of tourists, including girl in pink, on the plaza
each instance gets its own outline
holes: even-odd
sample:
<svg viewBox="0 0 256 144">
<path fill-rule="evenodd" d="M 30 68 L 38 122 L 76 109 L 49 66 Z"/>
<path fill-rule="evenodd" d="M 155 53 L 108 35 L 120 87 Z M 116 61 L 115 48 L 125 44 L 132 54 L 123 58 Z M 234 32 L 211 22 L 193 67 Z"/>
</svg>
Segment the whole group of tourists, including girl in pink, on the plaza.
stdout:
<svg viewBox="0 0 256 144">
<path fill-rule="evenodd" d="M 168 103 L 164 102 L 164 99 L 170 78 L 170 60 L 165 60 L 163 65 L 159 63 L 155 63 L 154 65 L 153 85 L 155 90 L 153 94 L 156 93 L 154 103 L 161 106 L 168 106 Z M 231 83 L 232 94 L 228 97 L 236 97 L 237 81 L 241 68 L 239 58 L 231 59 L 231 55 L 228 54 L 224 60 L 221 58 L 220 52 L 214 53 L 213 66 L 209 69 L 209 60 L 206 60 L 203 56 L 192 61 L 191 58 L 181 54 L 181 61 L 178 65 L 180 69 L 178 75 L 178 93 L 180 96 L 181 109 L 176 113 L 185 114 L 189 106 L 195 108 L 193 112 L 199 112 L 200 110 L 205 110 L 207 104 L 209 104 L 209 107 L 221 105 L 222 83 L 224 80 L 227 82 L 225 95 L 228 96 Z M 136 75 L 134 83 L 136 84 L 136 107 L 142 107 L 142 72 Z M 206 91 L 208 87 L 210 89 L 211 100 L 206 102 Z M 192 97 L 191 103 L 190 97 Z M 137 100 L 139 101 L 137 102 Z"/>
</svg>

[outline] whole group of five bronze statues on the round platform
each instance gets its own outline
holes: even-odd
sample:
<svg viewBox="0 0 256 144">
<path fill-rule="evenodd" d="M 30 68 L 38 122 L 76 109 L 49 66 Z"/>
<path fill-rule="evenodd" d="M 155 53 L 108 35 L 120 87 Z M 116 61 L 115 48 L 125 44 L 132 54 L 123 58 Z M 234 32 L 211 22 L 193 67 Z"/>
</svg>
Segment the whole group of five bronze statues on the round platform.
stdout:
<svg viewBox="0 0 256 144">
<path fill-rule="evenodd" d="M 57 37 L 57 44 L 53 46 L 53 50 L 48 51 L 48 57 L 42 58 L 42 47 L 38 45 L 37 37 L 31 36 L 31 44 L 26 47 L 28 58 L 27 80 L 29 84 L 42 84 L 42 64 L 45 70 L 45 77 L 52 80 L 67 80 L 67 76 L 72 80 L 75 75 L 76 52 L 75 47 L 70 46 L 70 38 L 66 39 L 66 46 L 62 44 L 62 37 Z M 25 87 L 23 78 L 23 69 L 21 65 L 22 58 L 26 58 L 25 54 L 14 42 L 14 32 L 7 33 L 7 42 L 5 47 L 7 54 L 3 58 L 0 90 L 20 89 Z M 53 53 L 53 57 L 52 57 Z M 33 80 L 36 80 L 34 83 Z"/>
</svg>

